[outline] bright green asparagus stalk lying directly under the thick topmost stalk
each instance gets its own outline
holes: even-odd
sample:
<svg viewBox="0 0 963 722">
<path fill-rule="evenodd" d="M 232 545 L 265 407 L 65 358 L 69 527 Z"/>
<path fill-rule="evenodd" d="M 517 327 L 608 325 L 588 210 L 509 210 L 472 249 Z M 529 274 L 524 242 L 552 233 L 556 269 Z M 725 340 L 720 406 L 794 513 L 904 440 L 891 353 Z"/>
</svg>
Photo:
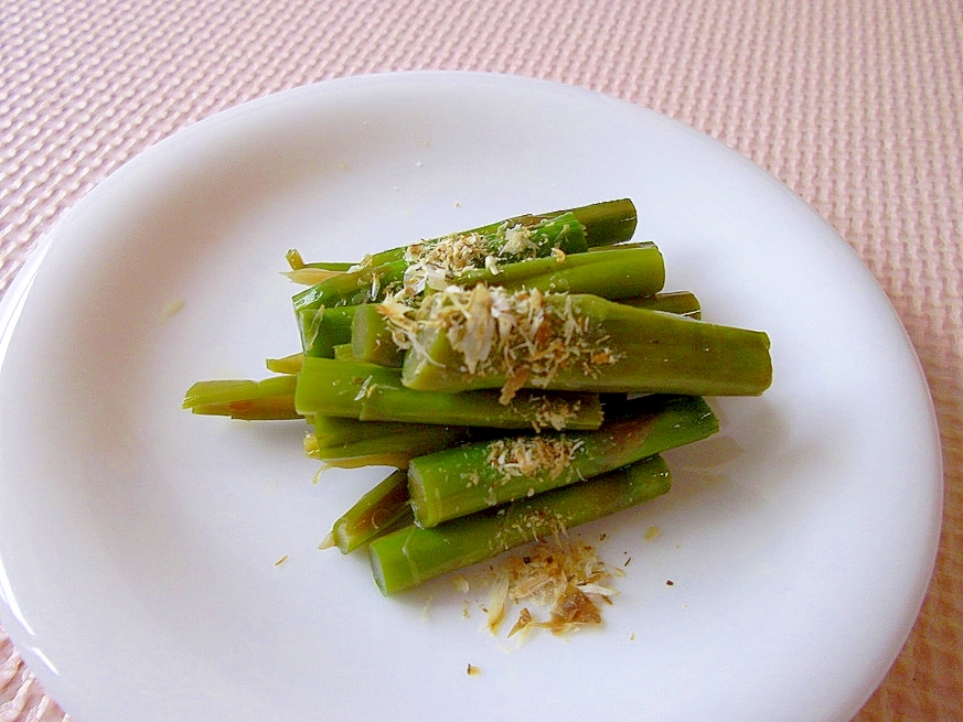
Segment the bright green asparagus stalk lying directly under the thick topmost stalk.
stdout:
<svg viewBox="0 0 963 722">
<path fill-rule="evenodd" d="M 295 407 L 304 416 L 500 429 L 597 429 L 602 422 L 592 394 L 531 391 L 504 405 L 497 392 L 413 391 L 402 385 L 398 369 L 312 357 L 298 375 Z"/>
</svg>

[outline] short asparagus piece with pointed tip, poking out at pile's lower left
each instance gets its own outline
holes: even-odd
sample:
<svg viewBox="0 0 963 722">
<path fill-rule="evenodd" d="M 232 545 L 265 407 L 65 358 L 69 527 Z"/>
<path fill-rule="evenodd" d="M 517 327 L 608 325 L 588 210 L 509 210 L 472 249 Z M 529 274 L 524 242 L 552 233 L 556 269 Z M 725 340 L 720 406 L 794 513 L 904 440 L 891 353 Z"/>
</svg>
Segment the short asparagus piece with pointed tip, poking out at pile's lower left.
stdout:
<svg viewBox="0 0 963 722">
<path fill-rule="evenodd" d="M 408 475 L 404 471 L 396 471 L 338 518 L 321 547 L 336 546 L 341 553 L 346 554 L 411 521 Z"/>
</svg>

